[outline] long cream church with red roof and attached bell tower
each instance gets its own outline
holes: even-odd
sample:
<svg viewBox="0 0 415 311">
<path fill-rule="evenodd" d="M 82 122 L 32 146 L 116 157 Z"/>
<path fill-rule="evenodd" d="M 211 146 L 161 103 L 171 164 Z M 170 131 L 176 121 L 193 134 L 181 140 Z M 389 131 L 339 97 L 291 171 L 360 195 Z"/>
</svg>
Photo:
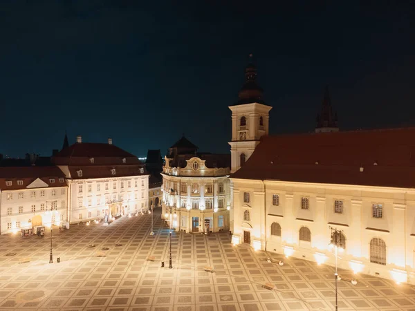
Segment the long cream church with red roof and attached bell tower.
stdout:
<svg viewBox="0 0 415 311">
<path fill-rule="evenodd" d="M 326 90 L 316 133 L 269 136 L 251 85 L 229 107 L 232 243 L 334 265 L 334 228 L 339 267 L 415 284 L 415 128 L 340 132 Z"/>
</svg>

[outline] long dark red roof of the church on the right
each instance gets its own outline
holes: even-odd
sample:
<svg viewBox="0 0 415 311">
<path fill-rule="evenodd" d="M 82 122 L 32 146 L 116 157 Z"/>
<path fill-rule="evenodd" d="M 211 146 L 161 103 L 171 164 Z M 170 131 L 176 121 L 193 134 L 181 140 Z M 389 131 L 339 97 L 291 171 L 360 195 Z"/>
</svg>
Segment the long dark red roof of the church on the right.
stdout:
<svg viewBox="0 0 415 311">
<path fill-rule="evenodd" d="M 414 138 L 415 128 L 264 136 L 231 178 L 413 188 Z"/>
</svg>

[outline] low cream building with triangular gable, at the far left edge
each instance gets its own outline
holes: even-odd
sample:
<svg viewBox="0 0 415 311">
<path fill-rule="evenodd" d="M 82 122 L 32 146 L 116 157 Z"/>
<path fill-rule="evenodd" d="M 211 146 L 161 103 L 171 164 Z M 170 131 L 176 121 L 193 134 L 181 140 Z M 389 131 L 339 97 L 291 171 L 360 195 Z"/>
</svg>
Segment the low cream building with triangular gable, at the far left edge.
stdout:
<svg viewBox="0 0 415 311">
<path fill-rule="evenodd" d="M 0 233 L 67 220 L 64 173 L 57 167 L 0 167 Z"/>
</svg>

